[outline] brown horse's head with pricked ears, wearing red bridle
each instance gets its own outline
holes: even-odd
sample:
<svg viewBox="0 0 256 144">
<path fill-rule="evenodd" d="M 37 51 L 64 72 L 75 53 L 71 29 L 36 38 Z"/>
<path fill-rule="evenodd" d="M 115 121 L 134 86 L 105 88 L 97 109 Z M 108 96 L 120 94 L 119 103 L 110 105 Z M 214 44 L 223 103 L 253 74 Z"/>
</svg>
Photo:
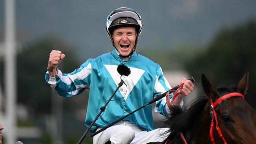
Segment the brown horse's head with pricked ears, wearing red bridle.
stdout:
<svg viewBox="0 0 256 144">
<path fill-rule="evenodd" d="M 245 95 L 248 88 L 248 72 L 246 72 L 245 76 L 243 76 L 237 85 L 219 88 L 215 87 L 203 74 L 202 86 L 208 98 L 213 100 L 213 102 L 233 92 L 239 92 Z M 210 103 L 208 104 L 210 105 Z M 243 97 L 233 96 L 226 98 L 214 109 L 224 140 L 228 144 L 256 144 L 256 111 Z M 210 106 L 207 106 L 205 110 L 210 112 Z M 213 136 L 217 144 L 223 144 L 223 140 L 215 128 Z"/>
</svg>

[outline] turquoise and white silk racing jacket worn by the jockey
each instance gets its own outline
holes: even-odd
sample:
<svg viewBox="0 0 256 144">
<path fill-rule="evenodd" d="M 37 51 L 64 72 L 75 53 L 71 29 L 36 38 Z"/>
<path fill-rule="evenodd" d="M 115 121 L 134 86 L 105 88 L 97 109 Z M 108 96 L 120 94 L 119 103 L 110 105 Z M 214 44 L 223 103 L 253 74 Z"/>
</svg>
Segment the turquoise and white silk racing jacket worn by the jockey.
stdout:
<svg viewBox="0 0 256 144">
<path fill-rule="evenodd" d="M 90 90 L 85 119 L 85 125 L 89 127 L 99 113 L 100 107 L 107 102 L 121 81 L 121 75 L 117 72 L 117 66 L 120 64 L 124 64 L 131 70 L 129 76 L 122 77 L 127 87 L 122 85 L 117 90 L 105 112 L 92 127 L 91 132 L 95 132 L 97 127 L 110 124 L 145 105 L 152 100 L 153 96 L 159 96 L 171 89 L 160 65 L 136 52 L 128 61 L 123 61 L 114 49 L 95 59 L 88 59 L 79 69 L 69 74 L 63 74 L 59 70 L 57 76 L 50 78 L 46 72 L 45 78 L 54 92 L 60 96 L 72 97 L 85 89 Z M 173 95 L 170 95 L 170 98 L 172 97 Z M 156 103 L 155 112 L 167 116 L 167 111 L 169 108 L 164 97 Z M 143 131 L 153 130 L 152 105 L 144 107 L 124 120 L 137 124 Z"/>
</svg>

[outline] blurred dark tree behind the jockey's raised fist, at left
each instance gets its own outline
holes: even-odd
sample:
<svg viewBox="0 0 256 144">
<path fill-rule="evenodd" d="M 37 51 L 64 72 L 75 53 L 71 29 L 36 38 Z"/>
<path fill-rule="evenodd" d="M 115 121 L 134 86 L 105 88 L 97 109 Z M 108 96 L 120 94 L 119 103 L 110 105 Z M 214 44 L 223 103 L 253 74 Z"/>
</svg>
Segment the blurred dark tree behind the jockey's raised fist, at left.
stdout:
<svg viewBox="0 0 256 144">
<path fill-rule="evenodd" d="M 24 46 L 17 54 L 18 103 L 26 105 L 30 114 L 50 113 L 52 95 L 45 82 L 45 72 L 53 49 L 67 56 L 60 63 L 63 72 L 79 67 L 73 48 L 61 39 L 43 38 Z"/>
</svg>

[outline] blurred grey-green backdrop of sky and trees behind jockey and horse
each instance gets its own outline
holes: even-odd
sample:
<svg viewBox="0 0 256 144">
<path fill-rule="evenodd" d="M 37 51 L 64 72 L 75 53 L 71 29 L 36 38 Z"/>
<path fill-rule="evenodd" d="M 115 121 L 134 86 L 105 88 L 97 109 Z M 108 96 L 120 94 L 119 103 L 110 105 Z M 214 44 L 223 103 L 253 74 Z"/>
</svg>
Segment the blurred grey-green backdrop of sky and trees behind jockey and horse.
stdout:
<svg viewBox="0 0 256 144">
<path fill-rule="evenodd" d="M 66 57 L 59 68 L 68 73 L 110 52 L 106 17 L 118 7 L 136 9 L 142 16 L 137 53 L 159 63 L 163 71 L 193 76 L 197 95 L 203 95 L 202 73 L 216 85 L 231 85 L 248 69 L 246 100 L 256 108 L 255 0 L 22 0 L 15 6 L 17 126 L 24 144 L 75 144 L 83 135 L 88 90 L 72 98 L 52 94 L 45 82 L 48 57 L 51 50 L 61 50 Z M 1 113 L 6 112 L 4 18 L 0 0 Z M 34 135 L 25 135 L 22 128 L 27 133 L 31 128 Z M 88 135 L 83 144 L 91 143 Z"/>
</svg>

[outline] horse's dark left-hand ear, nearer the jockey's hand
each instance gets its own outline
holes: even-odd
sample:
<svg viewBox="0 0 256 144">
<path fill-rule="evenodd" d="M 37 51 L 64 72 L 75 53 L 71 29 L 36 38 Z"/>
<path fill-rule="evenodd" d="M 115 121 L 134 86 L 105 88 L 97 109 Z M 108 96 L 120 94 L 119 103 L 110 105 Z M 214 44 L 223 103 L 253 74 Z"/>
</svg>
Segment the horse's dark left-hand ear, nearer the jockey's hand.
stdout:
<svg viewBox="0 0 256 144">
<path fill-rule="evenodd" d="M 215 99 L 217 97 L 217 87 L 215 87 L 215 85 L 213 85 L 213 83 L 211 83 L 204 74 L 202 74 L 201 81 L 205 94 L 209 98 Z"/>
</svg>

